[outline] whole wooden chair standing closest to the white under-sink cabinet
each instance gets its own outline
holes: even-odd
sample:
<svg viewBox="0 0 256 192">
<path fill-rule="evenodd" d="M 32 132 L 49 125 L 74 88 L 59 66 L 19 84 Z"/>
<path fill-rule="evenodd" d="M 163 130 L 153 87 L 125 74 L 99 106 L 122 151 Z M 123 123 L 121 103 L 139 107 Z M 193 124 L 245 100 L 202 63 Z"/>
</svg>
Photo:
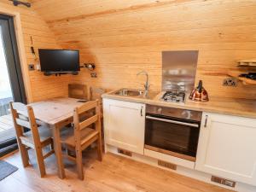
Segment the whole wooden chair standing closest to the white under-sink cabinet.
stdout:
<svg viewBox="0 0 256 192">
<path fill-rule="evenodd" d="M 88 119 L 80 120 L 83 113 L 95 110 L 95 114 Z M 95 124 L 95 129 L 91 128 Z M 90 127 L 89 127 L 90 126 Z M 73 132 L 71 132 L 73 131 Z M 97 141 L 98 160 L 102 161 L 102 131 L 101 131 L 101 110 L 99 101 L 84 103 L 80 108 L 75 108 L 73 113 L 73 130 L 68 129 L 61 133 L 61 143 L 65 144 L 69 150 L 75 150 L 75 157 L 65 155 L 69 160 L 74 160 L 77 164 L 79 179 L 84 179 L 82 151 L 88 148 L 91 143 Z"/>
</svg>

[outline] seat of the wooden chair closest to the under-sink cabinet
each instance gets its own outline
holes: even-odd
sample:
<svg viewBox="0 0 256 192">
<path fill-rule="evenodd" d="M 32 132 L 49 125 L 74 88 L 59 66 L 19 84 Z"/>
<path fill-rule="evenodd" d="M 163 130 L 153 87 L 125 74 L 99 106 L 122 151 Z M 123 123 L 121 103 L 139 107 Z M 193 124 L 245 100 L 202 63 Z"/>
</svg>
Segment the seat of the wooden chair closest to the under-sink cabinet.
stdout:
<svg viewBox="0 0 256 192">
<path fill-rule="evenodd" d="M 91 138 L 96 137 L 98 131 L 91 128 L 84 128 L 81 130 L 81 143 L 86 143 Z M 75 139 L 73 135 L 73 127 L 61 131 L 61 143 L 66 143 L 69 146 L 75 147 Z"/>
</svg>

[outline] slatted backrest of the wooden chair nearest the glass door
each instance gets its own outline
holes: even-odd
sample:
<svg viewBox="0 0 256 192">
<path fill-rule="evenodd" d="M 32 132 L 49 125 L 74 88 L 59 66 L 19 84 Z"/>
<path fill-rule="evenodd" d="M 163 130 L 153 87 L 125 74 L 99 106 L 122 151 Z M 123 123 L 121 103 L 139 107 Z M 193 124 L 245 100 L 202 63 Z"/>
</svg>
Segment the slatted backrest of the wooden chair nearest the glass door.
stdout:
<svg viewBox="0 0 256 192">
<path fill-rule="evenodd" d="M 40 144 L 38 125 L 32 107 L 20 102 L 10 102 L 10 109 L 14 120 L 17 137 L 24 136 L 23 127 L 32 131 L 35 146 Z"/>
</svg>

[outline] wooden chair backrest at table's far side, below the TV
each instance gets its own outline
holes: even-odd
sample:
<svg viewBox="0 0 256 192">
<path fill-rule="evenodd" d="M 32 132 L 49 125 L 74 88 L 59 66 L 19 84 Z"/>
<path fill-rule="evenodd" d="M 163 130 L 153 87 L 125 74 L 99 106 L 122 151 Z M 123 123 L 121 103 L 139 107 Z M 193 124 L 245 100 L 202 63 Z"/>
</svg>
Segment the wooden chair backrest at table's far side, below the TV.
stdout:
<svg viewBox="0 0 256 192">
<path fill-rule="evenodd" d="M 68 96 L 75 99 L 90 100 L 90 90 L 86 84 L 68 84 Z"/>
</svg>

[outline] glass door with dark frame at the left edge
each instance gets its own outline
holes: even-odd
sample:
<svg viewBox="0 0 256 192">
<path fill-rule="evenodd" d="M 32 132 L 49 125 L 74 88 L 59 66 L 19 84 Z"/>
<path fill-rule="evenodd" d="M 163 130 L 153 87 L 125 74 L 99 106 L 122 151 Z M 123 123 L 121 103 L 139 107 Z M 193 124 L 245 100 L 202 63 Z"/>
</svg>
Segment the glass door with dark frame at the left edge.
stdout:
<svg viewBox="0 0 256 192">
<path fill-rule="evenodd" d="M 0 15 L 0 156 L 17 148 L 9 102 L 26 103 L 12 17 Z"/>
</svg>

